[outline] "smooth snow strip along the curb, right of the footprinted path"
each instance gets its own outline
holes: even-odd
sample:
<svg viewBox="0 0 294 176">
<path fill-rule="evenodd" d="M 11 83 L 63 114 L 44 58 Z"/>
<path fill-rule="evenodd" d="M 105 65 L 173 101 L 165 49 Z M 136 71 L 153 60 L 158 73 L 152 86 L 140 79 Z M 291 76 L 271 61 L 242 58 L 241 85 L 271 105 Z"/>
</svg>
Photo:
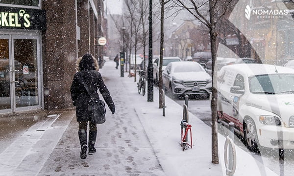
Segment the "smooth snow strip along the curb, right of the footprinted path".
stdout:
<svg viewBox="0 0 294 176">
<path fill-rule="evenodd" d="M 107 70 L 103 71 L 107 72 Z M 166 114 L 162 116 L 162 109 L 158 108 L 158 88 L 154 88 L 154 101 L 147 102 L 147 93 L 145 96 L 138 94 L 133 77 L 128 78 L 125 73 L 121 80 L 132 101 L 128 106 L 133 106 L 136 110 L 167 176 L 226 176 L 224 136 L 218 135 L 220 164 L 213 164 L 211 162 L 211 128 L 189 113 L 193 148 L 183 152 L 179 145 L 183 106 L 166 96 Z M 251 153 L 245 152 L 238 146 L 235 148 L 237 167 L 234 176 L 277 176 L 269 168 L 256 161 Z"/>
</svg>

